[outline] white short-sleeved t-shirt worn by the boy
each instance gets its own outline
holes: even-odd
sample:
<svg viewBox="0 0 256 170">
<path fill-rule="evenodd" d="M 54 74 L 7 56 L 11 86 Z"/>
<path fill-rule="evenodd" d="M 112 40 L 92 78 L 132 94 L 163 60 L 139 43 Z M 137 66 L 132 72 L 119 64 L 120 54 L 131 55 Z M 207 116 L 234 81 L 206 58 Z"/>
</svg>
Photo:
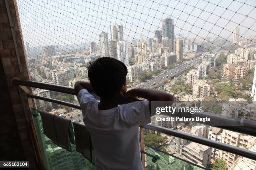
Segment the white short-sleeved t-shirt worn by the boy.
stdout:
<svg viewBox="0 0 256 170">
<path fill-rule="evenodd" d="M 99 110 L 99 101 L 86 89 L 77 95 L 84 124 L 92 137 L 97 170 L 143 170 L 139 125 L 151 122 L 148 101 Z"/>
</svg>

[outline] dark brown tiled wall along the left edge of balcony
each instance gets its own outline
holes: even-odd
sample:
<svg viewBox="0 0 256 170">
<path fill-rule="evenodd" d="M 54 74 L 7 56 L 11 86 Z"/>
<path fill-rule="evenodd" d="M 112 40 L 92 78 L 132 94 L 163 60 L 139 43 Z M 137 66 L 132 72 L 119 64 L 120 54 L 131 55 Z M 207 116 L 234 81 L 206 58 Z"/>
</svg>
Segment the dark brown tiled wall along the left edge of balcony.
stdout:
<svg viewBox="0 0 256 170">
<path fill-rule="evenodd" d="M 0 0 L 0 160 L 27 160 L 31 169 L 39 169 L 34 149 L 36 147 L 33 146 L 31 139 L 33 133 L 29 133 L 31 124 L 27 123 L 25 118 L 26 114 L 28 120 L 31 120 L 28 99 L 20 97 L 17 88 L 10 83 L 12 77 L 29 80 L 29 75 L 17 4 L 15 0 L 7 2 L 22 70 L 18 67 L 5 1 Z M 25 103 L 25 111 L 21 100 Z"/>
</svg>

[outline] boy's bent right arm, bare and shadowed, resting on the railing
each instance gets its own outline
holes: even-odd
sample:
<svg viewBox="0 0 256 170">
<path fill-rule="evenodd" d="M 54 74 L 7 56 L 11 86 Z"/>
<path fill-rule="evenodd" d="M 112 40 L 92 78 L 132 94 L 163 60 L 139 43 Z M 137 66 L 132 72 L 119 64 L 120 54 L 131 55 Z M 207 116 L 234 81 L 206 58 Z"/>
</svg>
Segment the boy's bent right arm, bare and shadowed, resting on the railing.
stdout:
<svg viewBox="0 0 256 170">
<path fill-rule="evenodd" d="M 160 91 L 160 90 L 153 90 L 153 89 L 131 89 L 125 93 L 122 100 L 127 98 L 137 98 L 141 97 L 144 99 L 149 100 L 148 107 L 151 112 L 151 101 L 174 101 L 173 95 Z M 151 116 L 154 116 L 156 113 L 151 113 Z"/>
</svg>

